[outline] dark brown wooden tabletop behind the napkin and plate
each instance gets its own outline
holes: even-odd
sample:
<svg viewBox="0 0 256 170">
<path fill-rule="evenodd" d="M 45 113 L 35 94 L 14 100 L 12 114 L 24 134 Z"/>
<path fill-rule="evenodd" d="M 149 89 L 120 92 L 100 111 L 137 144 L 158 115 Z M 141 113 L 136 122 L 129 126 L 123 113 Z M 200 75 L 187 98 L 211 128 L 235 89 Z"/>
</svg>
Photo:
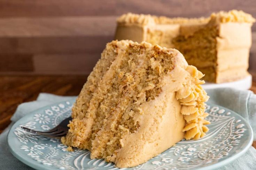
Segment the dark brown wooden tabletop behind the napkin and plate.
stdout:
<svg viewBox="0 0 256 170">
<path fill-rule="evenodd" d="M 256 74 L 251 90 L 256 93 Z M 10 124 L 17 106 L 36 100 L 39 93 L 78 95 L 86 75 L 69 76 L 0 76 L 0 133 Z M 256 148 L 256 141 L 253 146 Z"/>
</svg>

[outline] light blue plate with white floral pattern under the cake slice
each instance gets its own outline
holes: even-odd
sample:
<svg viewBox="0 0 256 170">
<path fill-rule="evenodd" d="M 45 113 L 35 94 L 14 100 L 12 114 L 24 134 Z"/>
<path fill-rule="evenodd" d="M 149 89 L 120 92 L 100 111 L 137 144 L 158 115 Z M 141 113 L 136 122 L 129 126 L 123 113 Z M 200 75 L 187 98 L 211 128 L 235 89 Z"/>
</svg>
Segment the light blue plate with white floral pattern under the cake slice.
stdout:
<svg viewBox="0 0 256 170">
<path fill-rule="evenodd" d="M 18 120 L 8 134 L 8 145 L 17 159 L 35 169 L 118 169 L 103 159 L 90 159 L 87 150 L 67 151 L 58 139 L 25 132 L 25 126 L 49 130 L 71 114 L 75 100 L 59 102 L 34 111 Z M 207 105 L 207 135 L 199 140 L 180 141 L 160 155 L 137 167 L 139 169 L 216 169 L 243 155 L 253 143 L 253 133 L 239 114 L 218 105 Z"/>
</svg>

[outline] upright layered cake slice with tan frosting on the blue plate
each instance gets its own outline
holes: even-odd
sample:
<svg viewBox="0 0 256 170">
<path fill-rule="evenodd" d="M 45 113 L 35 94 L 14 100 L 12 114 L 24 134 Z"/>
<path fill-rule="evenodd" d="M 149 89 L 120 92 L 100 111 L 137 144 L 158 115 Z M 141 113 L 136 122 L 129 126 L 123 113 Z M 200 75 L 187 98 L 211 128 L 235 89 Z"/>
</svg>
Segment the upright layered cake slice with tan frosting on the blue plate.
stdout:
<svg viewBox="0 0 256 170">
<path fill-rule="evenodd" d="M 117 167 L 133 167 L 181 139 L 199 139 L 208 96 L 203 74 L 175 49 L 113 41 L 73 106 L 62 143 Z"/>
</svg>

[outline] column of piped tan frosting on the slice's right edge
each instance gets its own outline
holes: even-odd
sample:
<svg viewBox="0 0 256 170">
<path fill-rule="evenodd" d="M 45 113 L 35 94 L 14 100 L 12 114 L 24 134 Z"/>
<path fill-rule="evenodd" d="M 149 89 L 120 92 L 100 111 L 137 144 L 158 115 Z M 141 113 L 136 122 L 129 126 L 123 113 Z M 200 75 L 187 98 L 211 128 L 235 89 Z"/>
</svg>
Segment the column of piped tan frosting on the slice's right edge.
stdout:
<svg viewBox="0 0 256 170">
<path fill-rule="evenodd" d="M 204 80 L 200 80 L 204 75 L 194 66 L 188 66 L 186 70 L 191 76 L 187 77 L 189 80 L 183 84 L 183 88 L 176 92 L 176 98 L 179 100 L 181 106 L 181 114 L 184 115 L 186 125 L 183 129 L 185 132 L 184 138 L 199 139 L 205 135 L 209 130 L 207 126 L 209 121 L 204 120 L 208 116 L 205 113 L 205 103 L 209 96 L 203 90 L 201 84 Z"/>
</svg>

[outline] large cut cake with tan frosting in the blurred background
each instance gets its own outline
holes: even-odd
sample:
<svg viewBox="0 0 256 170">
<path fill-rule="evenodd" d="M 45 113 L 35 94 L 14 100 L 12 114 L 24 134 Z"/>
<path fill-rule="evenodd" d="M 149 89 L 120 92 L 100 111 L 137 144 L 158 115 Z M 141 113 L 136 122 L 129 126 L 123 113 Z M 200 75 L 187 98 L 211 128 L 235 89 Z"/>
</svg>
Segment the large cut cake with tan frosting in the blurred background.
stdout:
<svg viewBox="0 0 256 170">
<path fill-rule="evenodd" d="M 117 19 L 115 39 L 178 49 L 205 74 L 204 80 L 223 83 L 248 76 L 254 22 L 250 14 L 237 10 L 192 19 L 129 13 Z"/>
</svg>

